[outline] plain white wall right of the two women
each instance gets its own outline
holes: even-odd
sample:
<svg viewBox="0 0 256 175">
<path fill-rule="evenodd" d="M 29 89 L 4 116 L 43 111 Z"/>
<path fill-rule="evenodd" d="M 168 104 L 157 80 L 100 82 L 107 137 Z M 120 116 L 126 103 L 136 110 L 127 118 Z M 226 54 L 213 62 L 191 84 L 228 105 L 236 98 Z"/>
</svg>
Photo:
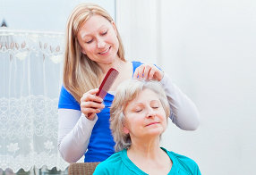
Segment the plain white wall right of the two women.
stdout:
<svg viewBox="0 0 256 175">
<path fill-rule="evenodd" d="M 156 63 L 201 113 L 196 131 L 183 131 L 169 122 L 163 146 L 198 162 L 202 174 L 254 174 L 256 2 L 117 2 L 119 29 L 128 38 L 126 53 L 156 55 Z M 156 4 L 153 10 L 150 4 Z M 120 6 L 132 18 L 118 11 Z M 156 37 L 149 35 L 151 28 Z"/>
</svg>

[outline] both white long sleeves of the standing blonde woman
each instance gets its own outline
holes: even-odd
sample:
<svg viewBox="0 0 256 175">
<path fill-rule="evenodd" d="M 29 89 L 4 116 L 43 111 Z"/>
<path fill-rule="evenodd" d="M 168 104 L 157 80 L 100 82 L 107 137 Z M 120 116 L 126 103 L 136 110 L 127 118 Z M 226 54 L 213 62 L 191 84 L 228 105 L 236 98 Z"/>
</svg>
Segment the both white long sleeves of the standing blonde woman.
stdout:
<svg viewBox="0 0 256 175">
<path fill-rule="evenodd" d="M 177 127 L 194 130 L 199 126 L 199 112 L 192 100 L 164 73 L 160 83 L 171 107 L 170 119 Z M 98 120 L 88 120 L 79 110 L 59 109 L 58 148 L 66 162 L 77 162 L 86 152 L 91 131 Z"/>
</svg>

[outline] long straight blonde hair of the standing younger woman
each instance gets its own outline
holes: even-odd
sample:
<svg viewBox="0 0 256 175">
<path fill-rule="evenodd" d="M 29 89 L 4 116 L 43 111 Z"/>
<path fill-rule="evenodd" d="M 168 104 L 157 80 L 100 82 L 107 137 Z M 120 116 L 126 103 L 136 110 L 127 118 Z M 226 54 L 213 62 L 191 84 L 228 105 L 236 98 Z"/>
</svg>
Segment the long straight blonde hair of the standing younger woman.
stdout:
<svg viewBox="0 0 256 175">
<path fill-rule="evenodd" d="M 87 55 L 81 53 L 81 46 L 77 39 L 81 25 L 93 15 L 103 16 L 109 22 L 113 21 L 112 17 L 102 7 L 97 4 L 84 3 L 74 8 L 66 26 L 63 73 L 64 87 L 79 103 L 81 96 L 85 92 L 99 86 L 98 77 L 102 73 L 97 63 L 91 61 Z M 119 41 L 117 55 L 121 60 L 125 61 L 124 46 L 117 29 L 116 32 Z"/>
</svg>

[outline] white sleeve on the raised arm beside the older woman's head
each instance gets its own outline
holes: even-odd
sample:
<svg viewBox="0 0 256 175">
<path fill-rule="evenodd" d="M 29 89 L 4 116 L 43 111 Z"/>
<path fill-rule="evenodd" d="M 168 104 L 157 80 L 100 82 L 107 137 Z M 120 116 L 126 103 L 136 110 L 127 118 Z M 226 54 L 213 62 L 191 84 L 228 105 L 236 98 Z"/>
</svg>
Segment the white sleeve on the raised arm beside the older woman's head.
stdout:
<svg viewBox="0 0 256 175">
<path fill-rule="evenodd" d="M 160 83 L 166 91 L 166 96 L 171 107 L 170 119 L 180 129 L 195 130 L 199 126 L 199 112 L 192 100 L 172 83 L 164 73 Z"/>
</svg>

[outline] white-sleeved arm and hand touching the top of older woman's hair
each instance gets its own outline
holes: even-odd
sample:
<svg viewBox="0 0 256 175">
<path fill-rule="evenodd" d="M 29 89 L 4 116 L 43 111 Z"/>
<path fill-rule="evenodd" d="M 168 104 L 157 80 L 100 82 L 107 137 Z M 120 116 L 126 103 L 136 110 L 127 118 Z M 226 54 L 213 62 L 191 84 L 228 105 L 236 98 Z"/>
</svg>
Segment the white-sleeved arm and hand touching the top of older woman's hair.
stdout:
<svg viewBox="0 0 256 175">
<path fill-rule="evenodd" d="M 133 79 L 158 80 L 166 91 L 171 107 L 170 119 L 177 127 L 184 130 L 195 130 L 199 126 L 199 112 L 192 100 L 172 83 L 166 73 L 153 64 L 141 64 L 133 74 Z"/>
</svg>

